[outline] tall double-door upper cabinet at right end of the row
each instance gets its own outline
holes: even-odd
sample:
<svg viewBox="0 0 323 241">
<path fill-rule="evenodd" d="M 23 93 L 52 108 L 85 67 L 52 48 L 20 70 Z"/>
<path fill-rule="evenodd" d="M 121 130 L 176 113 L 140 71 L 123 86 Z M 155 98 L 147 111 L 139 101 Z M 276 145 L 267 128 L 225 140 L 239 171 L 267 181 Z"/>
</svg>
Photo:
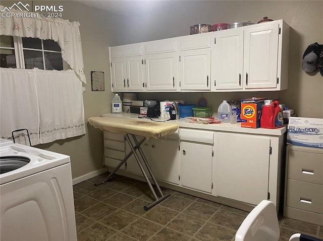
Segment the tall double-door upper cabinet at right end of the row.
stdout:
<svg viewBox="0 0 323 241">
<path fill-rule="evenodd" d="M 214 32 L 212 91 L 287 89 L 289 26 L 273 21 Z"/>
</svg>

